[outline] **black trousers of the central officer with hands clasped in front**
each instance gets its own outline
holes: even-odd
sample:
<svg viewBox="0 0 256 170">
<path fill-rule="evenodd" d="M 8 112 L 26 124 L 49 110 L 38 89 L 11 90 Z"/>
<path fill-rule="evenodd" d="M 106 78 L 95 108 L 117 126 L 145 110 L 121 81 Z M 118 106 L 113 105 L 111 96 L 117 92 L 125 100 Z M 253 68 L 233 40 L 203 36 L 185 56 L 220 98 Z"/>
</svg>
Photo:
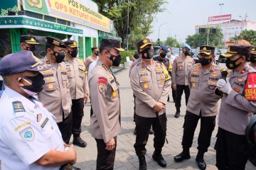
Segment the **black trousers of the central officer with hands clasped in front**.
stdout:
<svg viewBox="0 0 256 170">
<path fill-rule="evenodd" d="M 161 123 L 159 122 L 159 119 Z M 136 141 L 134 144 L 134 149 L 138 157 L 146 154 L 146 142 L 149 139 L 149 130 L 151 125 L 154 130 L 154 148 L 156 154 L 161 154 L 161 149 L 164 147 L 166 135 L 166 113 L 160 115 L 159 118 L 144 118 L 139 115 L 135 115 L 135 125 L 136 125 Z M 164 131 L 161 127 L 163 125 Z"/>
</svg>

